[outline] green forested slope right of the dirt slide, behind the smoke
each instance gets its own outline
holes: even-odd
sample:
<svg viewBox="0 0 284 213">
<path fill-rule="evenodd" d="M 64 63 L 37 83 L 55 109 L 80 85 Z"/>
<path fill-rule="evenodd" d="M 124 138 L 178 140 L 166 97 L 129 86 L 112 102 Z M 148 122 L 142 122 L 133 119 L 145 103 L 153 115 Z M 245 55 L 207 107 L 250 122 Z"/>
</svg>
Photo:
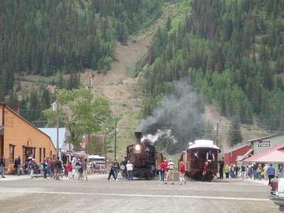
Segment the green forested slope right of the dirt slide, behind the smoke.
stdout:
<svg viewBox="0 0 284 213">
<path fill-rule="evenodd" d="M 189 140 L 212 138 L 215 124 L 199 115 L 213 104 L 232 119 L 231 145 L 242 141 L 240 124 L 253 119 L 283 132 L 284 1 L 183 2 L 190 5 L 185 19 L 160 28 L 149 48 L 144 116 L 150 119 L 141 129 L 171 129 L 182 143 L 161 146 L 175 152 Z"/>
</svg>

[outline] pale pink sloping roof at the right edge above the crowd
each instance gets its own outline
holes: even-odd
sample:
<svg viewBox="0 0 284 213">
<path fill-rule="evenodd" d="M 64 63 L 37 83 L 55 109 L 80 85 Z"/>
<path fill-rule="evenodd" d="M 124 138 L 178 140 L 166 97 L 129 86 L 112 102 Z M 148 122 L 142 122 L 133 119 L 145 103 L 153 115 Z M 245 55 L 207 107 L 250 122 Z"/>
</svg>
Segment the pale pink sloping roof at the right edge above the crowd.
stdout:
<svg viewBox="0 0 284 213">
<path fill-rule="evenodd" d="M 284 143 L 280 143 L 278 146 L 274 146 L 266 151 L 252 155 L 249 158 L 243 160 L 246 163 L 249 162 L 284 162 Z"/>
</svg>

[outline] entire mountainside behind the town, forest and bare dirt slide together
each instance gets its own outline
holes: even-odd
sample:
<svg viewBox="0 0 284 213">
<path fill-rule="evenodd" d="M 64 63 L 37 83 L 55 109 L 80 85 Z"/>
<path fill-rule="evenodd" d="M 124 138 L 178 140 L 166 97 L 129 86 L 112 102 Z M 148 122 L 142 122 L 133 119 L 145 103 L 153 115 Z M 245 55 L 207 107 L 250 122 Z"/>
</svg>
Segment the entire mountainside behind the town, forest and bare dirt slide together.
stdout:
<svg viewBox="0 0 284 213">
<path fill-rule="evenodd" d="M 163 10 L 165 4 L 176 8 Z M 0 101 L 20 106 L 39 125 L 40 111 L 55 99 L 47 84 L 86 85 L 90 69 L 92 91 L 104 94 L 112 116 L 120 117 L 121 155 L 141 109 L 137 129 L 170 129 L 177 143 L 155 143 L 169 153 L 216 138 L 217 122 L 226 149 L 250 131 L 283 132 L 283 6 L 283 0 L 1 1 Z M 148 26 L 160 28 L 136 34 Z"/>
</svg>

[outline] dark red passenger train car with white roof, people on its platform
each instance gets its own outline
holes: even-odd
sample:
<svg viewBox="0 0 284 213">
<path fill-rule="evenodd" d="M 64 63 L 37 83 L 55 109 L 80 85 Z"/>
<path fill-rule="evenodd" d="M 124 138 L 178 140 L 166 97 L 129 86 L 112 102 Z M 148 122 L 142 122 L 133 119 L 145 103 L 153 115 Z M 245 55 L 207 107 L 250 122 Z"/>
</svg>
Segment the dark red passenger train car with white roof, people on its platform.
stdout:
<svg viewBox="0 0 284 213">
<path fill-rule="evenodd" d="M 218 172 L 218 154 L 221 149 L 211 140 L 196 140 L 182 151 L 180 161 L 185 163 L 185 174 L 195 180 L 204 180 L 204 164 L 209 163 L 206 180 L 211 181 Z"/>
</svg>

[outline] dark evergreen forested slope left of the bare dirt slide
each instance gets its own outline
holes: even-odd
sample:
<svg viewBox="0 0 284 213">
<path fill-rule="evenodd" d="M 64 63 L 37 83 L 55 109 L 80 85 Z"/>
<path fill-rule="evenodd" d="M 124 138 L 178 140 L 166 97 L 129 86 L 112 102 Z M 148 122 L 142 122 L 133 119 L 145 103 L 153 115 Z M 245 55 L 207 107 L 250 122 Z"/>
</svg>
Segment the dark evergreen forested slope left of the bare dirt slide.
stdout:
<svg viewBox="0 0 284 213">
<path fill-rule="evenodd" d="M 148 27 L 161 0 L 24 0 L 0 2 L 0 96 L 14 73 L 50 76 L 85 68 L 107 72 L 114 40 Z"/>
</svg>

